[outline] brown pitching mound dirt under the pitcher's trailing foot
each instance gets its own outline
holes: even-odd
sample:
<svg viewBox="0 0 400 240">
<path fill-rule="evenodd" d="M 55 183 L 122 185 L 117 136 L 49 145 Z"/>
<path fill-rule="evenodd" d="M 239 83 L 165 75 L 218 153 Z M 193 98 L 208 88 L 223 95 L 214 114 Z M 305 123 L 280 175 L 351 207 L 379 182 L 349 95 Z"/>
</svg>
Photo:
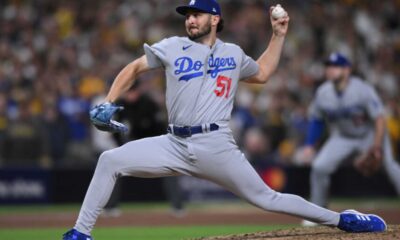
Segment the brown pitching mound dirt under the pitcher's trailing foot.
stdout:
<svg viewBox="0 0 400 240">
<path fill-rule="evenodd" d="M 300 239 L 340 239 L 340 240 L 376 240 L 400 239 L 400 225 L 389 225 L 383 233 L 346 233 L 335 228 L 311 227 L 277 230 L 271 232 L 258 232 L 224 237 L 199 238 L 197 240 L 300 240 Z"/>
</svg>

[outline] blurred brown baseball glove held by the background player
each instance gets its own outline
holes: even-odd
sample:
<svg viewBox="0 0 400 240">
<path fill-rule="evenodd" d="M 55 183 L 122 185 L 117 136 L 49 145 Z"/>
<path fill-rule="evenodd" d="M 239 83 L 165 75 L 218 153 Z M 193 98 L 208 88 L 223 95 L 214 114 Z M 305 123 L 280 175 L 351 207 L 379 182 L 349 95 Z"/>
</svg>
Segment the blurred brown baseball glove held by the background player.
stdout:
<svg viewBox="0 0 400 240">
<path fill-rule="evenodd" d="M 364 176 L 373 175 L 381 165 L 382 149 L 377 147 L 371 147 L 354 161 L 355 168 Z"/>
</svg>

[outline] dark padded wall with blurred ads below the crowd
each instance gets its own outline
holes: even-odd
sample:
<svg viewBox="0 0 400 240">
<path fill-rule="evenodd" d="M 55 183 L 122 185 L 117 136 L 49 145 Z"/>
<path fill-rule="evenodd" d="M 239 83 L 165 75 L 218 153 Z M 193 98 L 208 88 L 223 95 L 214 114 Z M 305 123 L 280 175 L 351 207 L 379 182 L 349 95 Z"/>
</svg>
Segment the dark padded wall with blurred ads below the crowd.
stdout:
<svg viewBox="0 0 400 240">
<path fill-rule="evenodd" d="M 272 188 L 305 198 L 309 194 L 309 168 L 270 167 L 259 172 Z M 93 175 L 93 169 L 1 169 L 0 203 L 81 202 Z M 192 177 L 180 177 L 188 201 L 236 198 L 219 186 Z M 122 201 L 164 201 L 161 179 L 122 178 Z M 333 175 L 332 197 L 394 197 L 395 190 L 383 172 L 365 178 L 352 168 Z"/>
</svg>

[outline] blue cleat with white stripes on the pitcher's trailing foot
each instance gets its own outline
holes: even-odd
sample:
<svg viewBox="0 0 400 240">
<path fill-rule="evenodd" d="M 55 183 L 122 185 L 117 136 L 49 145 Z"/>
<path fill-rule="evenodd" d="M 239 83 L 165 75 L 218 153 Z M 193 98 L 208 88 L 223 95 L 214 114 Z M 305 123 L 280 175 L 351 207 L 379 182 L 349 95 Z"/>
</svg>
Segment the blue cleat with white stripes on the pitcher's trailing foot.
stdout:
<svg viewBox="0 0 400 240">
<path fill-rule="evenodd" d="M 340 213 L 338 224 L 340 230 L 346 232 L 383 232 L 387 226 L 385 221 L 374 214 L 363 214 L 355 210 Z"/>
</svg>

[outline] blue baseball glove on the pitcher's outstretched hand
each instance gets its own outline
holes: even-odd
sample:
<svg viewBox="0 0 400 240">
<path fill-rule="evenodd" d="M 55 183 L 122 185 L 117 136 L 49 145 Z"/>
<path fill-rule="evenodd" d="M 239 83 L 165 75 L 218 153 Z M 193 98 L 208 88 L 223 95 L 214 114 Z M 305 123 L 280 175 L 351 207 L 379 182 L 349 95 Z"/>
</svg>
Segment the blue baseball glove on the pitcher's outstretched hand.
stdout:
<svg viewBox="0 0 400 240">
<path fill-rule="evenodd" d="M 128 128 L 124 124 L 111 119 L 114 113 L 122 109 L 123 107 L 117 106 L 114 103 L 102 103 L 90 110 L 90 121 L 101 131 L 125 133 L 128 131 Z"/>
</svg>

